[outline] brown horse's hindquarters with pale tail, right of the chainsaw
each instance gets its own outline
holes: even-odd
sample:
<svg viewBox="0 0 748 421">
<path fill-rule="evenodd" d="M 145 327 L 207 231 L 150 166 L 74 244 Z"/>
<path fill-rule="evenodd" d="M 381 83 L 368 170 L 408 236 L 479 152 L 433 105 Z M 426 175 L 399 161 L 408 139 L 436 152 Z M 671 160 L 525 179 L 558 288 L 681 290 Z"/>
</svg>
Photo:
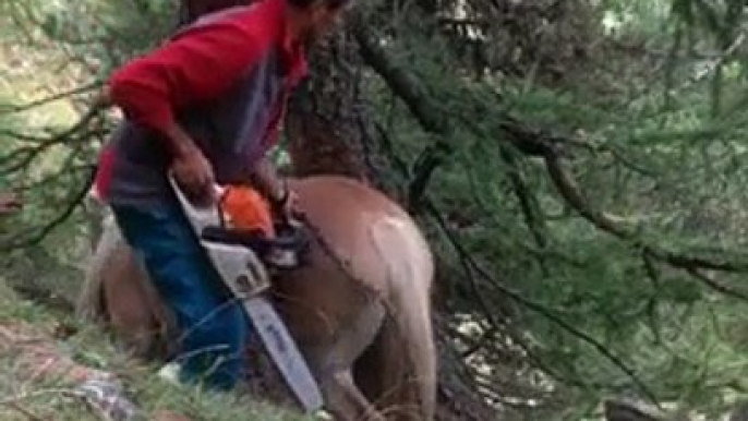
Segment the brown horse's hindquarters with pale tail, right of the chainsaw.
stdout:
<svg viewBox="0 0 748 421">
<path fill-rule="evenodd" d="M 313 303 L 323 316 L 288 305 L 289 328 L 302 347 L 312 345 L 317 354 L 328 347 L 328 354 L 335 356 L 317 360 L 317 369 L 337 363 L 339 373 L 346 373 L 355 361 L 359 390 L 366 390 L 369 402 L 394 417 L 386 419 L 432 420 L 436 396 L 430 297 L 434 265 L 426 240 L 402 208 L 357 181 L 311 177 L 292 187 L 309 222 L 349 263 L 355 279 L 340 274 L 324 252 L 313 248 L 314 272 L 302 270 L 287 292 L 298 302 Z M 348 346 L 339 346 L 342 342 Z M 372 352 L 364 356 L 370 345 Z M 355 401 L 358 393 L 350 385 L 347 388 L 353 399 L 343 402 Z M 340 397 L 328 393 L 326 399 L 335 402 L 336 396 Z"/>
</svg>

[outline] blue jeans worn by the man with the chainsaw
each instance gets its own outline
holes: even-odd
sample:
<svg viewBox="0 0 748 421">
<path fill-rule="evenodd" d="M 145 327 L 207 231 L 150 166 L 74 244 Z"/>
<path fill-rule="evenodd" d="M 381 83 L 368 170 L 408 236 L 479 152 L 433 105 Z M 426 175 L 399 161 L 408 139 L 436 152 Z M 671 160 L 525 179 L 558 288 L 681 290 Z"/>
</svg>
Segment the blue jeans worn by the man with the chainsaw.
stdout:
<svg viewBox="0 0 748 421">
<path fill-rule="evenodd" d="M 124 239 L 177 316 L 181 380 L 203 380 L 210 387 L 230 389 L 244 372 L 249 318 L 181 208 L 111 207 Z"/>
</svg>

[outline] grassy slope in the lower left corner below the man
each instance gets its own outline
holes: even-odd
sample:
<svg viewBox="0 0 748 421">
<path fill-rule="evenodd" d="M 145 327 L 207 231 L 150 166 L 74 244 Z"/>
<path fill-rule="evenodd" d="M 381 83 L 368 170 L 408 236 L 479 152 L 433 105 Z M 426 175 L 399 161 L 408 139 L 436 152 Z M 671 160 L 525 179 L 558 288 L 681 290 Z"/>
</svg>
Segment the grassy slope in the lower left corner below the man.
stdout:
<svg viewBox="0 0 748 421">
<path fill-rule="evenodd" d="M 74 334 L 62 337 L 61 330 Z M 12 340 L 9 332 L 13 333 Z M 128 360 L 117 352 L 99 327 L 80 326 L 68 314 L 21 300 L 0 279 L 0 372 L 3 373 L 0 420 L 100 420 L 82 400 L 71 396 L 73 382 L 39 373 L 44 358 L 28 363 L 33 350 L 44 356 L 59 352 L 77 364 L 114 373 L 124 384 L 128 397 L 146 413 L 171 410 L 189 420 L 215 421 L 305 419 L 239 394 L 209 393 L 166 383 L 156 376 L 154 366 Z"/>
</svg>

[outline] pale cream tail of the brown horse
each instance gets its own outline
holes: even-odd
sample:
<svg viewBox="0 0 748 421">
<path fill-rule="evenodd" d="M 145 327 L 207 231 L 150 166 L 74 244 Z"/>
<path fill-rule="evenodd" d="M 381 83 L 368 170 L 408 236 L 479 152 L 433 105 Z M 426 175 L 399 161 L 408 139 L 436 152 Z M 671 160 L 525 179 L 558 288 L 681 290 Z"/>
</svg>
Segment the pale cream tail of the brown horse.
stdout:
<svg viewBox="0 0 748 421">
<path fill-rule="evenodd" d="M 434 268 L 420 232 L 410 224 L 401 224 L 397 221 L 393 228 L 398 229 L 385 229 L 376 236 L 382 240 L 377 241 L 381 248 L 407 245 L 388 253 L 381 250 L 387 256 L 384 262 L 390 274 L 390 293 L 386 299 L 389 316 L 364 354 L 364 383 L 374 389 L 363 392 L 387 419 L 431 421 L 437 382 L 430 297 Z M 394 237 L 383 237 L 382 232 Z"/>
</svg>

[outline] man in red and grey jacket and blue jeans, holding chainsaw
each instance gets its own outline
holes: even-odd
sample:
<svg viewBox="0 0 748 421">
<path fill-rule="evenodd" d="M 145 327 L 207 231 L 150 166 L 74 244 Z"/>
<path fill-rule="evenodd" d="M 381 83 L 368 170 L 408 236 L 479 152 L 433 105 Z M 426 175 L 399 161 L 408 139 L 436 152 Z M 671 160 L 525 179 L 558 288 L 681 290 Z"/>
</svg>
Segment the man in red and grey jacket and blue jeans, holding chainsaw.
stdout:
<svg viewBox="0 0 748 421">
<path fill-rule="evenodd" d="M 109 81 L 107 99 L 125 119 L 100 155 L 95 189 L 177 315 L 183 381 L 201 377 L 231 388 L 244 366 L 249 333 L 167 172 L 196 204 L 216 200 L 214 182 L 248 180 L 272 201 L 287 202 L 266 152 L 289 92 L 306 75 L 304 47 L 349 1 L 260 0 L 210 13 Z"/>
</svg>

